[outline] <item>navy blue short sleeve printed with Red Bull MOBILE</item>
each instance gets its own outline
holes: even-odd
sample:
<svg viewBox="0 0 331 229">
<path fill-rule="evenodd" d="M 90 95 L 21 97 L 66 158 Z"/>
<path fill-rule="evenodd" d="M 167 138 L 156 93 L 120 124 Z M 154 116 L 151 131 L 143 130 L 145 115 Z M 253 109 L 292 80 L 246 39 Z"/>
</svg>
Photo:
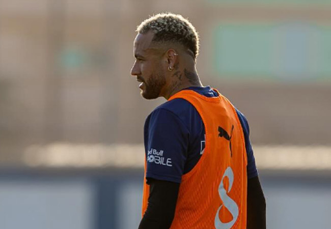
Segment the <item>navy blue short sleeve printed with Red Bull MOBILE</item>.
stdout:
<svg viewBox="0 0 331 229">
<path fill-rule="evenodd" d="M 188 137 L 188 129 L 175 113 L 154 110 L 145 124 L 146 178 L 180 183 Z"/>
</svg>

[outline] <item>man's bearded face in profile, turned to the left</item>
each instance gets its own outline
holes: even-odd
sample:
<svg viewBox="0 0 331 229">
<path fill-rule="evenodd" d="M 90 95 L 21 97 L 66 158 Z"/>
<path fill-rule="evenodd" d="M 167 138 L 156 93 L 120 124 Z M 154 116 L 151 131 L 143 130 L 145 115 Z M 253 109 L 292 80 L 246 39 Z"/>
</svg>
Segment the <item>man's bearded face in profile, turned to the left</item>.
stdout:
<svg viewBox="0 0 331 229">
<path fill-rule="evenodd" d="M 153 32 L 138 34 L 134 40 L 133 53 L 135 62 L 131 75 L 141 82 L 139 88 L 145 99 L 156 99 L 166 85 L 166 76 L 162 66 L 162 53 L 151 47 Z"/>
</svg>

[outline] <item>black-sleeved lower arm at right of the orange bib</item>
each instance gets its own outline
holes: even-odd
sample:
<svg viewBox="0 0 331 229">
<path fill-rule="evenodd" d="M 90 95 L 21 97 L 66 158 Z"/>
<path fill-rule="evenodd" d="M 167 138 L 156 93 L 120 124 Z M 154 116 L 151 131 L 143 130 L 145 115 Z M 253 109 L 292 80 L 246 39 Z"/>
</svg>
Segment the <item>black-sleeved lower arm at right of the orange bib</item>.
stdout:
<svg viewBox="0 0 331 229">
<path fill-rule="evenodd" d="M 266 203 L 259 177 L 247 182 L 247 229 L 266 228 Z"/>
</svg>

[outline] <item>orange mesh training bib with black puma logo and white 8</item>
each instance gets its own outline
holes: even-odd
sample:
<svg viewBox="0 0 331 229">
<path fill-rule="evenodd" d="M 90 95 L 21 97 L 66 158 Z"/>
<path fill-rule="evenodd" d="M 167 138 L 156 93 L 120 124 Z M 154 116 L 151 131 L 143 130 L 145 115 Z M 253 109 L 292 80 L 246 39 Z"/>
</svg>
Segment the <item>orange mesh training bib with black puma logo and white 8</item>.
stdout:
<svg viewBox="0 0 331 229">
<path fill-rule="evenodd" d="M 243 131 L 233 105 L 219 93 L 218 97 L 205 97 L 183 90 L 169 100 L 175 98 L 196 107 L 205 125 L 206 143 L 199 162 L 182 176 L 171 229 L 245 229 L 247 159 Z M 148 196 L 145 159 L 143 215 Z"/>
</svg>

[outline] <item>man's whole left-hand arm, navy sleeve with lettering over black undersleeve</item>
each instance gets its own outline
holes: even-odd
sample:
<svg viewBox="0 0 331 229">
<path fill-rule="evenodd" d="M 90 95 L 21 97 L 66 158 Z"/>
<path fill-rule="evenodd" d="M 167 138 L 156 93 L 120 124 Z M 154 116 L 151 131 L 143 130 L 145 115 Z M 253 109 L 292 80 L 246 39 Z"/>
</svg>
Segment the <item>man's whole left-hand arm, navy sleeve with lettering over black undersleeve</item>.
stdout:
<svg viewBox="0 0 331 229">
<path fill-rule="evenodd" d="M 168 229 L 175 215 L 179 185 L 187 157 L 189 131 L 172 111 L 172 107 L 181 107 L 182 100 L 175 99 L 166 105 L 155 109 L 145 123 L 149 197 L 139 229 Z M 155 160 L 158 157 L 156 152 L 169 164 L 158 163 Z"/>
</svg>

